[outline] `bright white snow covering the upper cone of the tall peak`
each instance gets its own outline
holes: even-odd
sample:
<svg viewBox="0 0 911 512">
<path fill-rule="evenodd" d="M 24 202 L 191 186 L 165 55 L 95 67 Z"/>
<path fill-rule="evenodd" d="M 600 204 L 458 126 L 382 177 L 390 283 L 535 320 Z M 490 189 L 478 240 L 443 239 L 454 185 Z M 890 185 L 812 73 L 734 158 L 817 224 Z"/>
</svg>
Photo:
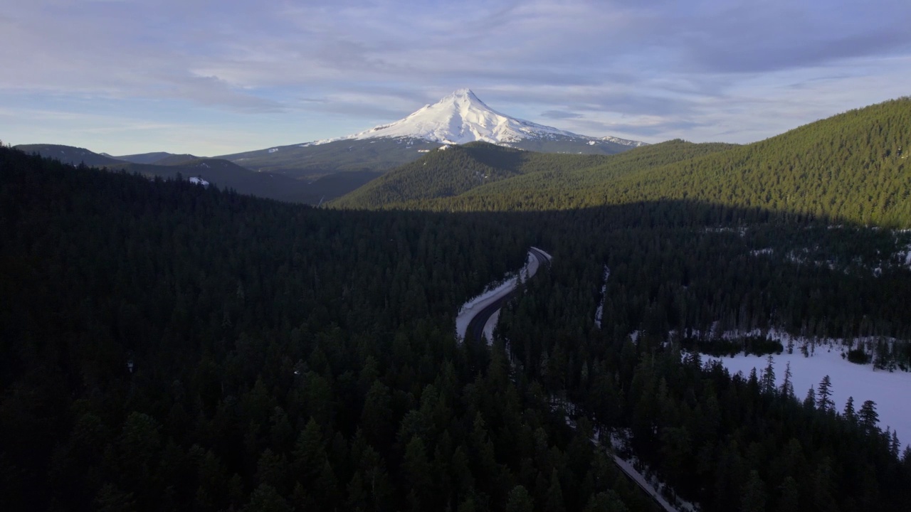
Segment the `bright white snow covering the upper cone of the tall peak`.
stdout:
<svg viewBox="0 0 911 512">
<path fill-rule="evenodd" d="M 592 144 L 605 140 L 632 148 L 645 144 L 614 137 L 585 137 L 558 128 L 510 118 L 487 107 L 470 89 L 459 89 L 435 104 L 425 105 L 407 118 L 394 123 L 342 138 L 317 140 L 311 144 L 368 138 L 421 138 L 441 144 L 465 144 L 475 140 L 508 144 L 528 138 L 578 138 L 590 140 Z"/>
</svg>

